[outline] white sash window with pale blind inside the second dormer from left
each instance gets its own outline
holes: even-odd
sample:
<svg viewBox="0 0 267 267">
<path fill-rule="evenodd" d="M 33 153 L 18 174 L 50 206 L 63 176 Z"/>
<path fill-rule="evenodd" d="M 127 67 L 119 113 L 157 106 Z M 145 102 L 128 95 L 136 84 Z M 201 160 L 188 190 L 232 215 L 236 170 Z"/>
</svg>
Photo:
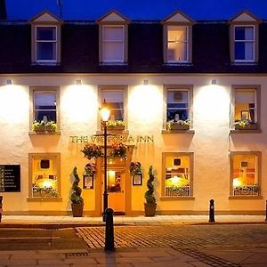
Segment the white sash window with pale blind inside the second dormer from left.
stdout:
<svg viewBox="0 0 267 267">
<path fill-rule="evenodd" d="M 125 61 L 125 26 L 105 25 L 102 27 L 102 61 Z"/>
</svg>

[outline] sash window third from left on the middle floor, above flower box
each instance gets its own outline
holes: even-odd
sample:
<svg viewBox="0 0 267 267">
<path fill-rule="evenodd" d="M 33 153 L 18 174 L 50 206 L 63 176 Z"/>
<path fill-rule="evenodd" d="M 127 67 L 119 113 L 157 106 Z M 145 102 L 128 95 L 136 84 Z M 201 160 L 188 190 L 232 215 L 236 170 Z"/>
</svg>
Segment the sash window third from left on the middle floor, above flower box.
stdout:
<svg viewBox="0 0 267 267">
<path fill-rule="evenodd" d="M 190 119 L 190 89 L 167 89 L 166 122 Z"/>
</svg>

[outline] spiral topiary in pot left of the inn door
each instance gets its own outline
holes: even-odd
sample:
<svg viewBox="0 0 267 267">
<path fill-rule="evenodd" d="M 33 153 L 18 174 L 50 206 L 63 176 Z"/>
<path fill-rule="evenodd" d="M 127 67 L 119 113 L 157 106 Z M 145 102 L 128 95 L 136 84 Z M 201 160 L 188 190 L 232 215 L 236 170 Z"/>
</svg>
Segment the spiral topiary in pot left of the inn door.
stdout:
<svg viewBox="0 0 267 267">
<path fill-rule="evenodd" d="M 71 209 L 73 217 L 82 217 L 84 211 L 84 198 L 81 197 L 82 189 L 78 186 L 80 178 L 77 174 L 77 167 L 75 166 L 72 175 L 74 181 L 72 183 L 72 193 L 70 195 Z"/>
</svg>

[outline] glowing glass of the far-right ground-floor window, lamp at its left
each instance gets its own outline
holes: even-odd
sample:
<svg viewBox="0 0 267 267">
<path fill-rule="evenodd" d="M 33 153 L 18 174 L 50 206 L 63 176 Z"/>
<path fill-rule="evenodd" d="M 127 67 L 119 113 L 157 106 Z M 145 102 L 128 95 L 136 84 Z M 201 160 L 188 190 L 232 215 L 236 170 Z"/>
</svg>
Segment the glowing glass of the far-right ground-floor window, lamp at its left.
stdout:
<svg viewBox="0 0 267 267">
<path fill-rule="evenodd" d="M 233 156 L 233 195 L 258 195 L 257 156 Z"/>
</svg>

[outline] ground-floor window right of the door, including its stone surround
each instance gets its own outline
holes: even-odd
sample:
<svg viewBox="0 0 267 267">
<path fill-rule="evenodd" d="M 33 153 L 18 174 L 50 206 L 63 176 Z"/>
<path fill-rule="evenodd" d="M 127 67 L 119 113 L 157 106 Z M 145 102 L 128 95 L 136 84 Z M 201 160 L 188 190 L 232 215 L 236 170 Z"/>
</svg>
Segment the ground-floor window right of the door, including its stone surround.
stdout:
<svg viewBox="0 0 267 267">
<path fill-rule="evenodd" d="M 192 153 L 163 153 L 164 197 L 192 196 Z"/>
</svg>

